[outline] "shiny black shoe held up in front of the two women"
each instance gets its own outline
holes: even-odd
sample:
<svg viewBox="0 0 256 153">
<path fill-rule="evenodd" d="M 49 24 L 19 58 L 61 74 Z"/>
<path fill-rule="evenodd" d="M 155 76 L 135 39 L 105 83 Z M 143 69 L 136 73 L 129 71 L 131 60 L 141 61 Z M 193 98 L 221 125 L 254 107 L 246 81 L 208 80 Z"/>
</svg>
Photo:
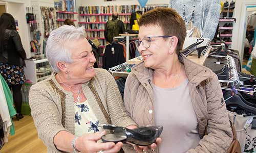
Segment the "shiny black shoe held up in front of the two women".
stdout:
<svg viewBox="0 0 256 153">
<path fill-rule="evenodd" d="M 110 130 L 110 134 L 101 137 L 103 142 L 130 142 L 136 145 L 147 146 L 156 142 L 161 135 L 163 126 L 141 126 L 136 129 L 127 129 L 121 126 L 106 124 L 104 130 Z"/>
</svg>

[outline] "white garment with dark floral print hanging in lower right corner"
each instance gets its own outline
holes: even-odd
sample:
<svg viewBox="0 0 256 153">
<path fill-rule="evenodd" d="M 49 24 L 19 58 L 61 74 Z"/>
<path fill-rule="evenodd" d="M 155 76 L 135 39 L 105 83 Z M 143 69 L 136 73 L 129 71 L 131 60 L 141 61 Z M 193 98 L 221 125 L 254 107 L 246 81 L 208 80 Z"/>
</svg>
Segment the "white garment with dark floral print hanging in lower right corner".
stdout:
<svg viewBox="0 0 256 153">
<path fill-rule="evenodd" d="M 246 121 L 255 116 L 238 115 L 228 111 L 228 116 L 233 119 L 237 132 L 237 140 L 240 142 L 242 152 L 253 152 L 256 150 L 256 130 L 251 129 L 251 124 L 244 128 Z"/>
</svg>

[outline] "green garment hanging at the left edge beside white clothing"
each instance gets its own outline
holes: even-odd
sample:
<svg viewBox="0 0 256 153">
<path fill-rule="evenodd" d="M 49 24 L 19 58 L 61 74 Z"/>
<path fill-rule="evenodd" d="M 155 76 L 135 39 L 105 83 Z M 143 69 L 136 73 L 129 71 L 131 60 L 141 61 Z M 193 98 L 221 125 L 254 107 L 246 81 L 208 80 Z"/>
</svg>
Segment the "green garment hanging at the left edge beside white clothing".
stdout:
<svg viewBox="0 0 256 153">
<path fill-rule="evenodd" d="M 7 83 L 5 82 L 5 79 L 2 77 L 2 75 L 0 74 L 0 80 L 2 82 L 2 86 L 3 86 L 3 89 L 4 89 L 4 94 L 5 94 L 5 97 L 6 97 L 6 101 L 7 101 L 7 106 L 8 106 L 8 110 L 9 110 L 9 114 L 10 116 L 14 116 L 16 115 L 16 110 L 14 109 L 13 107 L 13 98 L 12 98 L 12 93 L 7 85 Z M 12 118 L 11 118 L 11 122 L 12 122 Z M 14 124 L 12 122 L 12 125 L 11 125 L 11 130 L 10 130 L 10 134 L 11 135 L 14 135 L 15 134 L 15 129 L 14 129 Z"/>
</svg>

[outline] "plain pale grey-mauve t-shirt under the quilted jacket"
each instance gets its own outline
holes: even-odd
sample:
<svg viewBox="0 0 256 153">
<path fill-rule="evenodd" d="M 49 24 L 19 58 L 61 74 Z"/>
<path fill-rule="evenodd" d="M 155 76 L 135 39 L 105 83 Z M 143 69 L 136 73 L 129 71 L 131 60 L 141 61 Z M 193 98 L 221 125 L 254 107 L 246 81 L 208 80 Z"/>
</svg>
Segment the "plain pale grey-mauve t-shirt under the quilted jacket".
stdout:
<svg viewBox="0 0 256 153">
<path fill-rule="evenodd" d="M 160 153 L 186 152 L 200 141 L 198 121 L 191 104 L 188 80 L 176 88 L 153 84 L 155 124 L 163 125 Z"/>
</svg>

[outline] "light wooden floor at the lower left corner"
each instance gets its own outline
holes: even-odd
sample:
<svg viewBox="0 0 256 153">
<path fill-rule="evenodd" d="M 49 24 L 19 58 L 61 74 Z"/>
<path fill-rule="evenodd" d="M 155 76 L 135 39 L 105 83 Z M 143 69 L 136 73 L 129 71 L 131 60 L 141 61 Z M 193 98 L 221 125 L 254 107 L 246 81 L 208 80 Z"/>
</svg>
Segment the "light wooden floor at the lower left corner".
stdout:
<svg viewBox="0 0 256 153">
<path fill-rule="evenodd" d="M 24 116 L 17 121 L 14 117 L 15 135 L 9 136 L 9 142 L 0 150 L 1 153 L 46 153 L 47 148 L 38 139 L 31 116 Z"/>
</svg>

